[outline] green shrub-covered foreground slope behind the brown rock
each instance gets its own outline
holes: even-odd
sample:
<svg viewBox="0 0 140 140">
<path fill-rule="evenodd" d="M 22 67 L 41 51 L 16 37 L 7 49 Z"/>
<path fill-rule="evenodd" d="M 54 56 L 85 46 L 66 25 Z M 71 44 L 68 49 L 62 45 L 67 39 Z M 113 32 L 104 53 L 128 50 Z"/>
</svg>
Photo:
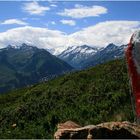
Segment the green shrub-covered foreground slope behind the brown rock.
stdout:
<svg viewBox="0 0 140 140">
<path fill-rule="evenodd" d="M 52 138 L 56 125 L 133 121 L 124 60 L 0 95 L 0 138 Z"/>
</svg>

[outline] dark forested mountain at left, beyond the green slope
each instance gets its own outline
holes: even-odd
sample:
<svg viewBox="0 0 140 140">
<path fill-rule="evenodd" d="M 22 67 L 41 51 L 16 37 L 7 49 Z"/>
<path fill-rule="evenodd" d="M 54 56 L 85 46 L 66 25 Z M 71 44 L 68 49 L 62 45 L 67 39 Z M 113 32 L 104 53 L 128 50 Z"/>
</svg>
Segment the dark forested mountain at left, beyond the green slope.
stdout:
<svg viewBox="0 0 140 140">
<path fill-rule="evenodd" d="M 9 45 L 0 49 L 0 93 L 51 79 L 72 69 L 44 49 L 27 44 Z"/>
</svg>

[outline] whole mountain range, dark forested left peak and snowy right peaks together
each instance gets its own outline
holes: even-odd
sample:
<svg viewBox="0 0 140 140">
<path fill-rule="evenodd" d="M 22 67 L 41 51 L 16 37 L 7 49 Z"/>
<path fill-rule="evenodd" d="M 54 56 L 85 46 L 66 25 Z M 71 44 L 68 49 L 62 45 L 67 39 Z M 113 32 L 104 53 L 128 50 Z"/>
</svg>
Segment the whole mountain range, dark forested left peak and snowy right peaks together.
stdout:
<svg viewBox="0 0 140 140">
<path fill-rule="evenodd" d="M 105 48 L 72 46 L 54 56 L 45 49 L 25 43 L 9 45 L 0 49 L 0 93 L 122 58 L 125 48 L 126 45 L 113 43 Z"/>
</svg>

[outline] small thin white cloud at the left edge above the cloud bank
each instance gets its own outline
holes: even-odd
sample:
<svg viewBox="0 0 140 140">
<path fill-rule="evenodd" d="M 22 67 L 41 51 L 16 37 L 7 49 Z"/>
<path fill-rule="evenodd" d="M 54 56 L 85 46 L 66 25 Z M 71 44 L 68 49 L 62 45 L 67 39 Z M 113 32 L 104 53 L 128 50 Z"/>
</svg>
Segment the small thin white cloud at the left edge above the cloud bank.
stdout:
<svg viewBox="0 0 140 140">
<path fill-rule="evenodd" d="M 22 20 L 19 20 L 19 19 L 7 19 L 7 20 L 1 22 L 0 24 L 4 24 L 4 25 L 7 25 L 7 24 L 28 25 L 28 23 L 26 23 Z"/>
</svg>

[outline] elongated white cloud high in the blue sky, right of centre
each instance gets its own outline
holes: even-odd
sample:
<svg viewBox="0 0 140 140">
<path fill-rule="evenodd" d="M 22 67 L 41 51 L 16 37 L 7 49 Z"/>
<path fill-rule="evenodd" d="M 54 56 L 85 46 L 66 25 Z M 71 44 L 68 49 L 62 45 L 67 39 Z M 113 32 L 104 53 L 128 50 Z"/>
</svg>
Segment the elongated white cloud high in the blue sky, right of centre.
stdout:
<svg viewBox="0 0 140 140">
<path fill-rule="evenodd" d="M 72 18 L 85 18 L 85 17 L 95 17 L 100 16 L 101 14 L 106 14 L 107 8 L 103 6 L 83 6 L 83 5 L 75 5 L 73 9 L 64 9 L 63 12 L 57 13 L 61 16 L 68 16 Z"/>
</svg>

